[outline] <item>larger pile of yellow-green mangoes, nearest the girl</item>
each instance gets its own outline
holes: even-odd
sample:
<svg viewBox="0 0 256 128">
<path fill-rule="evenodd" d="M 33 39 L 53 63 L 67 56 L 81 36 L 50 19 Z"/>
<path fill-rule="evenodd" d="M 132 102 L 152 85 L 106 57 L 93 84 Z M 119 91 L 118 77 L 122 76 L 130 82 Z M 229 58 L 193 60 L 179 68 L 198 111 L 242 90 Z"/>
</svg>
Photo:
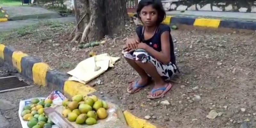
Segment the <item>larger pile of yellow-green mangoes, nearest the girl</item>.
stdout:
<svg viewBox="0 0 256 128">
<path fill-rule="evenodd" d="M 98 119 L 108 117 L 108 104 L 95 95 L 85 98 L 83 95 L 76 95 L 72 97 L 72 101 L 63 100 L 62 106 L 66 108 L 62 111 L 62 116 L 76 124 L 93 125 L 97 124 Z"/>
</svg>

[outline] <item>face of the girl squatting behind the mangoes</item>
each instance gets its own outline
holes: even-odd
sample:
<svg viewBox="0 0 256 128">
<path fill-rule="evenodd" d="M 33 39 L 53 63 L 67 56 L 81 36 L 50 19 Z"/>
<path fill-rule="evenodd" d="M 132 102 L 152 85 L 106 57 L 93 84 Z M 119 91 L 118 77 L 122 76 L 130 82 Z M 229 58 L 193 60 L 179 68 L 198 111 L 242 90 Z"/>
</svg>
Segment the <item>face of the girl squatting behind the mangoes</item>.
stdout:
<svg viewBox="0 0 256 128">
<path fill-rule="evenodd" d="M 140 18 L 145 26 L 154 26 L 156 25 L 157 11 L 152 5 L 145 6 L 140 11 Z"/>
</svg>

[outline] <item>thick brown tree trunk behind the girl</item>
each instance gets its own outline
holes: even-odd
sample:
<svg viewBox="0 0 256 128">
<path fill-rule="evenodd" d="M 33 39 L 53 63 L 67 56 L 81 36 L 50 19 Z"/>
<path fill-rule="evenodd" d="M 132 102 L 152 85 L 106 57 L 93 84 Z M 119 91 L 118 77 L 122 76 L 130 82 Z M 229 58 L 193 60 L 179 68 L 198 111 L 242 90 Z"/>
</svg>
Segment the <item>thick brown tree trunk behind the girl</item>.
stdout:
<svg viewBox="0 0 256 128">
<path fill-rule="evenodd" d="M 72 41 L 80 38 L 83 43 L 111 36 L 124 28 L 128 18 L 125 0 L 74 0 L 74 4 L 76 22 L 82 20 Z"/>
</svg>

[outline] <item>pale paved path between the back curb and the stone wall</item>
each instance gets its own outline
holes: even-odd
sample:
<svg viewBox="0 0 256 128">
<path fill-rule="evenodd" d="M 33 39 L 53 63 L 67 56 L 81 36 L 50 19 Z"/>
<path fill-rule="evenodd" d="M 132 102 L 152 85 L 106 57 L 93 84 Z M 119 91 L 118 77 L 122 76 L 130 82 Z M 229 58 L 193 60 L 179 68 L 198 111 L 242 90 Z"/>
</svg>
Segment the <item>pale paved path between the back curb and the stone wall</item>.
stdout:
<svg viewBox="0 0 256 128">
<path fill-rule="evenodd" d="M 189 17 L 212 17 L 220 19 L 246 20 L 256 22 L 256 13 L 244 12 L 213 12 L 213 11 L 168 11 L 167 15 L 189 16 Z"/>
</svg>

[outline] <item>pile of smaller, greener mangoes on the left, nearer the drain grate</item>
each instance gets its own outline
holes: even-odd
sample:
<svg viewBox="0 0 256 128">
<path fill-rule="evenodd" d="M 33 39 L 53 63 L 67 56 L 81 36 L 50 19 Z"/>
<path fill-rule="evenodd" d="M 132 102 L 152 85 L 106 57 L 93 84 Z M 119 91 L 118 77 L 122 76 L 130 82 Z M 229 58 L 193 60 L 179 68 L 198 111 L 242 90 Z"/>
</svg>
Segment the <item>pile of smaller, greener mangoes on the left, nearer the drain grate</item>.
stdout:
<svg viewBox="0 0 256 128">
<path fill-rule="evenodd" d="M 21 113 L 22 119 L 28 121 L 29 128 L 51 128 L 54 124 L 44 115 L 44 108 L 50 107 L 52 100 L 32 99 L 30 104 L 24 106 Z"/>
</svg>

